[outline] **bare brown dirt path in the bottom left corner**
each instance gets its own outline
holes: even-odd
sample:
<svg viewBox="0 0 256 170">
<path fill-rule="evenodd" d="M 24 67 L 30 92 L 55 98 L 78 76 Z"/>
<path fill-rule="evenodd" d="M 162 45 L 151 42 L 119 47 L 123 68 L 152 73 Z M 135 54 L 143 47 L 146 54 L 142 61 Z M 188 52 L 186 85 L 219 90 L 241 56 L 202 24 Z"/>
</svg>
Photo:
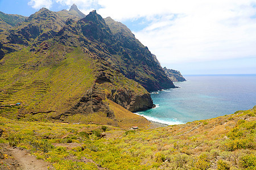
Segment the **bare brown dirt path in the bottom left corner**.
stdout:
<svg viewBox="0 0 256 170">
<path fill-rule="evenodd" d="M 11 147 L 7 144 L 1 144 L 2 154 L 6 154 L 7 158 L 2 159 L 1 162 L 7 165 L 6 169 L 18 170 L 47 170 L 54 169 L 50 163 L 43 160 L 36 159 L 35 156 L 28 153 L 26 150 L 21 150 L 18 147 Z M 9 157 L 9 158 L 8 158 Z"/>
</svg>

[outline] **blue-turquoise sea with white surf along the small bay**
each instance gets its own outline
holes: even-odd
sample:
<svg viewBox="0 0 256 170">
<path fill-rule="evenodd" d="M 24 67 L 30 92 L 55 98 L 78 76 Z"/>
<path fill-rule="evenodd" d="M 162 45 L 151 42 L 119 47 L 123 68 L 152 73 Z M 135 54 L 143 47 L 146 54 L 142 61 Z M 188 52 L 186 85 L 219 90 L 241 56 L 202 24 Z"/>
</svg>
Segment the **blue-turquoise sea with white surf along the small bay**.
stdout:
<svg viewBox="0 0 256 170">
<path fill-rule="evenodd" d="M 185 75 L 169 90 L 151 93 L 156 108 L 137 112 L 151 121 L 168 125 L 203 120 L 256 105 L 256 74 Z"/>
</svg>

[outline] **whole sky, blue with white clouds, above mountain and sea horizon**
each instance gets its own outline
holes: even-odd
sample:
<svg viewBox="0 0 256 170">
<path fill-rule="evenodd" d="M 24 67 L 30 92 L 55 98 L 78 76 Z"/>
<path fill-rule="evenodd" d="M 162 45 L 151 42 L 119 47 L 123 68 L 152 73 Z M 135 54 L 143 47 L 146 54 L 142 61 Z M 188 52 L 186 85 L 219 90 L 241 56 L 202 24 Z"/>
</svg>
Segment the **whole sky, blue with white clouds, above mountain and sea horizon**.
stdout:
<svg viewBox="0 0 256 170">
<path fill-rule="evenodd" d="M 0 0 L 0 11 L 30 16 L 73 3 L 127 25 L 168 69 L 256 74 L 256 0 Z"/>
</svg>

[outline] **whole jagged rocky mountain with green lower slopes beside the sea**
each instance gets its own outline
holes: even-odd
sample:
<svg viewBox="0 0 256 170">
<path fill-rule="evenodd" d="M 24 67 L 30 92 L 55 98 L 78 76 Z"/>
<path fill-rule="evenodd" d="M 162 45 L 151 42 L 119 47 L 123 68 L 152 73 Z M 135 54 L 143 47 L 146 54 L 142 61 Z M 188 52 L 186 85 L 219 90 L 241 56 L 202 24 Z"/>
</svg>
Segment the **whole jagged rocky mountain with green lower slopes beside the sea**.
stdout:
<svg viewBox="0 0 256 170">
<path fill-rule="evenodd" d="M 125 25 L 103 19 L 95 10 L 82 16 L 75 5 L 61 12 L 42 8 L 0 33 L 0 103 L 21 103 L 1 115 L 149 124 L 127 115 L 153 107 L 148 91 L 174 84 Z"/>
</svg>

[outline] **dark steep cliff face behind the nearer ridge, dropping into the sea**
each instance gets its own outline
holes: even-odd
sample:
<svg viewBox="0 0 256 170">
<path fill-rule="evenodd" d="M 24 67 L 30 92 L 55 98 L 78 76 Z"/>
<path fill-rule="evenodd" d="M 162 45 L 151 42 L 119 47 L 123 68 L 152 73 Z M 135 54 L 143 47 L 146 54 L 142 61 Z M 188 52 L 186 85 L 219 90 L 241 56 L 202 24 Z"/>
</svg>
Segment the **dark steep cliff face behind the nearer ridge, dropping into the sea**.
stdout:
<svg viewBox="0 0 256 170">
<path fill-rule="evenodd" d="M 106 59 L 112 62 L 123 75 L 142 84 L 148 91 L 175 88 L 174 84 L 148 48 L 139 42 L 126 25 L 105 19 L 113 34 L 114 54 Z"/>
</svg>

